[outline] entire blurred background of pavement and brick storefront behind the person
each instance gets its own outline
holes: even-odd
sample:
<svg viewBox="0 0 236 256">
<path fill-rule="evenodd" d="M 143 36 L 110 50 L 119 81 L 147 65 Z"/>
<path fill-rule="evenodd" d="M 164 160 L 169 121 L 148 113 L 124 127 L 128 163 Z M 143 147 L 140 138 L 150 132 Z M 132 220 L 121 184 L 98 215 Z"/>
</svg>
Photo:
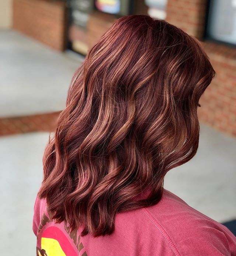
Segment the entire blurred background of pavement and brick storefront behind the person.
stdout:
<svg viewBox="0 0 236 256">
<path fill-rule="evenodd" d="M 35 254 L 49 132 L 90 47 L 128 14 L 180 27 L 209 55 L 216 77 L 198 108 L 198 152 L 164 187 L 236 234 L 236 0 L 0 0 L 1 254 Z"/>
</svg>

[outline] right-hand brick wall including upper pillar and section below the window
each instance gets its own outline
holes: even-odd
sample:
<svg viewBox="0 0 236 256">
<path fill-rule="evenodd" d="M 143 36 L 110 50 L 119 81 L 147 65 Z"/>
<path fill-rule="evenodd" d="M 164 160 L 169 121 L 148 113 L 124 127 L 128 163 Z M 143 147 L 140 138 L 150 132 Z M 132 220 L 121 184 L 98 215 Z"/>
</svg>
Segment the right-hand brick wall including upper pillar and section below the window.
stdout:
<svg viewBox="0 0 236 256">
<path fill-rule="evenodd" d="M 202 39 L 206 0 L 168 0 L 166 21 Z M 216 77 L 199 103 L 200 121 L 236 136 L 236 49 L 210 41 L 202 42 Z"/>
</svg>

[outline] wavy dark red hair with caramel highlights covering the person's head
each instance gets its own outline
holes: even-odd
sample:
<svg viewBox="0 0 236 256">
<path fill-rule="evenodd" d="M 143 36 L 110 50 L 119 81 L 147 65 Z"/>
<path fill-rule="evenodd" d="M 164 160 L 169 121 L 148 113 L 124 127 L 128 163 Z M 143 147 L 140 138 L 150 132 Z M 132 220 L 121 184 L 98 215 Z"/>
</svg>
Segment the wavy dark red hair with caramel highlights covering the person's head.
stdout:
<svg viewBox="0 0 236 256">
<path fill-rule="evenodd" d="M 159 202 L 165 174 L 197 152 L 199 98 L 214 74 L 179 28 L 119 18 L 76 71 L 45 150 L 39 197 L 55 221 L 106 235 L 117 213 Z"/>
</svg>

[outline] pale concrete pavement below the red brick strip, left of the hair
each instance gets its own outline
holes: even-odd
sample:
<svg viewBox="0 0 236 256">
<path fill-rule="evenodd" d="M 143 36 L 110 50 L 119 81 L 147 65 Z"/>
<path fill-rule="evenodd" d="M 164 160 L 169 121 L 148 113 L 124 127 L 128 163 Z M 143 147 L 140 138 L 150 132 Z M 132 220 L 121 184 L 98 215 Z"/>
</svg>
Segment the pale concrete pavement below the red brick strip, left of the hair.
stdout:
<svg viewBox="0 0 236 256">
<path fill-rule="evenodd" d="M 0 252 L 35 255 L 32 232 L 34 200 L 42 181 L 42 154 L 47 133 L 0 137 Z"/>
</svg>

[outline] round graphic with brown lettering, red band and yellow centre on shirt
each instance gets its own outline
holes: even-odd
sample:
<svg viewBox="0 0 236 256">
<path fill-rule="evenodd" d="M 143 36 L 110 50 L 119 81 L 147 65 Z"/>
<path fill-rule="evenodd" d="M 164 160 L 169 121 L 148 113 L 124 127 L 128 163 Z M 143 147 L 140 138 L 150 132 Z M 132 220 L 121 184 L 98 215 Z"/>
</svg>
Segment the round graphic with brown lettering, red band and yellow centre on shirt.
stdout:
<svg viewBox="0 0 236 256">
<path fill-rule="evenodd" d="M 45 213 L 38 227 L 37 240 L 37 256 L 78 256 L 78 251 L 84 250 L 77 230 L 70 232 L 67 222 L 56 224 Z M 85 250 L 81 256 L 87 256 Z"/>
</svg>

